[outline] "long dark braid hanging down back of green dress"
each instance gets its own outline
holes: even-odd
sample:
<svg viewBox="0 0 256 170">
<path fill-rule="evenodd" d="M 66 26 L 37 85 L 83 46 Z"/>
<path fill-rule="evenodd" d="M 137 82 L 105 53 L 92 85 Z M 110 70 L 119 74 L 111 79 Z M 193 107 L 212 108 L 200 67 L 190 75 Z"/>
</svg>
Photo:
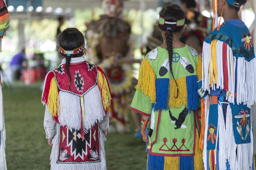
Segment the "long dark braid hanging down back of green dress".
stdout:
<svg viewBox="0 0 256 170">
<path fill-rule="evenodd" d="M 176 87 L 177 87 L 177 95 L 175 96 L 175 98 L 178 98 L 179 95 L 179 87 L 178 84 L 173 76 L 173 71 L 172 71 L 172 31 L 167 29 L 165 32 L 165 37 L 166 37 L 166 44 L 167 44 L 167 50 L 168 50 L 168 54 L 169 54 L 169 66 L 170 66 L 170 71 L 171 71 L 171 75 L 175 81 Z"/>
</svg>

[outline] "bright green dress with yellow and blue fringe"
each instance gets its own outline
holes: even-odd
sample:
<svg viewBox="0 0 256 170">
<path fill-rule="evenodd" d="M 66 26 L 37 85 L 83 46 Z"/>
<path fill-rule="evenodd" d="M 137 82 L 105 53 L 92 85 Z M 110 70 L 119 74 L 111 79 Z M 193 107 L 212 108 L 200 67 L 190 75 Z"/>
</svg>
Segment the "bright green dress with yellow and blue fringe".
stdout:
<svg viewBox="0 0 256 170">
<path fill-rule="evenodd" d="M 187 45 L 174 48 L 172 70 L 177 98 L 168 51 L 156 47 L 142 61 L 135 87 L 131 110 L 150 116 L 147 169 L 203 169 L 196 114 L 202 58 Z"/>
</svg>

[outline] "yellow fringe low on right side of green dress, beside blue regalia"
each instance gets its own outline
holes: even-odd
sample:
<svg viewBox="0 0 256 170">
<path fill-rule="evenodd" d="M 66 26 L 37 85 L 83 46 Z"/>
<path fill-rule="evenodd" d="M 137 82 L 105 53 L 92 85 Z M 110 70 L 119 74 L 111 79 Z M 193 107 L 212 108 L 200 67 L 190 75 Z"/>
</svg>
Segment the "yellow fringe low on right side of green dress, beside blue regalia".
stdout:
<svg viewBox="0 0 256 170">
<path fill-rule="evenodd" d="M 196 130 L 195 151 L 194 151 L 194 169 L 195 170 L 204 169 L 202 156 L 203 156 L 202 150 L 199 148 L 199 134 L 198 134 L 198 130 Z"/>
</svg>

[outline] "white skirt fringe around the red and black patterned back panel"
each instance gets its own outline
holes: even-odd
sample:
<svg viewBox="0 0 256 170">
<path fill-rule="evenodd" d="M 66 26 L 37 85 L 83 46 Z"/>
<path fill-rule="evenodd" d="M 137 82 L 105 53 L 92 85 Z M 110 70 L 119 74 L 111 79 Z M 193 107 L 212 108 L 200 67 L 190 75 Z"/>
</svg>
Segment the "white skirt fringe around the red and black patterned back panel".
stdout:
<svg viewBox="0 0 256 170">
<path fill-rule="evenodd" d="M 107 169 L 106 166 L 106 157 L 105 157 L 105 149 L 104 149 L 104 142 L 106 141 L 106 137 L 104 136 L 103 132 L 99 129 L 100 133 L 100 147 L 101 147 L 101 162 L 95 163 L 56 163 L 58 158 L 58 133 L 60 132 L 60 125 L 57 124 L 57 134 L 52 139 L 52 151 L 51 151 L 51 170 L 77 170 L 77 169 L 90 169 L 90 170 L 105 170 Z"/>
</svg>

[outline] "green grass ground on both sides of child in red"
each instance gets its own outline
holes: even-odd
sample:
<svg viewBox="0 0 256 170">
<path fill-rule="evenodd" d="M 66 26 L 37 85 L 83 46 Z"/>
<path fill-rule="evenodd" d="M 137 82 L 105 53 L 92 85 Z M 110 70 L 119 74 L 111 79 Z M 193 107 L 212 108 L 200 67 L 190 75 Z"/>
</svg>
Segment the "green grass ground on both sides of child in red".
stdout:
<svg viewBox="0 0 256 170">
<path fill-rule="evenodd" d="M 9 170 L 50 169 L 51 147 L 43 127 L 45 108 L 41 103 L 40 85 L 15 83 L 14 90 L 3 88 Z M 131 130 L 133 127 L 131 123 Z M 105 150 L 109 170 L 145 169 L 145 144 L 135 139 L 133 133 L 109 134 Z"/>
</svg>

